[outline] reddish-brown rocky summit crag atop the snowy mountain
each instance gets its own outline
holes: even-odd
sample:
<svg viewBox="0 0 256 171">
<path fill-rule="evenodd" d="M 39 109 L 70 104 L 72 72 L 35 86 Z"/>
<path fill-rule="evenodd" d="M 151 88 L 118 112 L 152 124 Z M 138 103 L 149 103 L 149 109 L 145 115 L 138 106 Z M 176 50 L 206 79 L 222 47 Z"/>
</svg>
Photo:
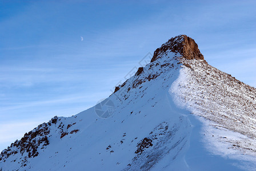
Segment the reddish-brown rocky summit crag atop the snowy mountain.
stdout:
<svg viewBox="0 0 256 171">
<path fill-rule="evenodd" d="M 158 59 L 159 55 L 167 50 L 170 50 L 171 52 L 178 52 L 186 59 L 204 59 L 194 39 L 187 35 L 178 35 L 169 39 L 168 42 L 157 48 L 151 62 Z"/>
</svg>

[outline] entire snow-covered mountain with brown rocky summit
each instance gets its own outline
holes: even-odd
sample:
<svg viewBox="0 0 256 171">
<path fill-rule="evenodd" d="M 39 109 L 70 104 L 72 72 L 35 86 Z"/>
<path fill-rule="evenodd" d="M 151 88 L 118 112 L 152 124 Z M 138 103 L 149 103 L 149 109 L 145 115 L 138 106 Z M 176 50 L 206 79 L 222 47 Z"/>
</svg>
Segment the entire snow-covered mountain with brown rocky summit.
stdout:
<svg viewBox="0 0 256 171">
<path fill-rule="evenodd" d="M 256 170 L 256 89 L 171 38 L 101 103 L 55 116 L 0 155 L 0 170 Z"/>
</svg>

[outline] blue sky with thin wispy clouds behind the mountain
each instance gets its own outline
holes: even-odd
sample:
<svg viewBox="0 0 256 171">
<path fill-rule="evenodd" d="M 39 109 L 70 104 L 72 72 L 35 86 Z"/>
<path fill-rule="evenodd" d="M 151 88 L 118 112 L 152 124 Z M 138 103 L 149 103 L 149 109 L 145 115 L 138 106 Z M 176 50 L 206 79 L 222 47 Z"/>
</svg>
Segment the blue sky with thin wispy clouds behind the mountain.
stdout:
<svg viewBox="0 0 256 171">
<path fill-rule="evenodd" d="M 179 34 L 195 39 L 209 64 L 256 87 L 255 9 L 255 1 L 1 1 L 0 150 L 108 97 Z"/>
</svg>

